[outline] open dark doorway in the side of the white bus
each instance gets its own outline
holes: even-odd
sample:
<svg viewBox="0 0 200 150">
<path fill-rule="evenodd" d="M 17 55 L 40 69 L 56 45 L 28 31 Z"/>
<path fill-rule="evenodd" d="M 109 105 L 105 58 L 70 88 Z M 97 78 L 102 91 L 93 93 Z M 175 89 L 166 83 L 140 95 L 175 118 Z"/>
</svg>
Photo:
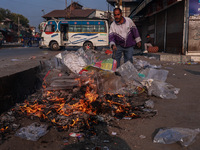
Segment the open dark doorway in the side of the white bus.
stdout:
<svg viewBox="0 0 200 150">
<path fill-rule="evenodd" d="M 60 39 L 61 39 L 61 44 L 65 45 L 68 43 L 69 36 L 68 36 L 68 31 L 69 31 L 69 25 L 68 24 L 61 24 L 60 25 Z"/>
</svg>

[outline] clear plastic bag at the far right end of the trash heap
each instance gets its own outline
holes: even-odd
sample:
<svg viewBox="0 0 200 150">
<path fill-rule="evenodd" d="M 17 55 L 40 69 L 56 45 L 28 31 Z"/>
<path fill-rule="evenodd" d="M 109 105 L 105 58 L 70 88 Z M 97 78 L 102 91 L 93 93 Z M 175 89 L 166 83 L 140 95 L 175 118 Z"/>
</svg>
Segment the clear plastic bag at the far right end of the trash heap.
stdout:
<svg viewBox="0 0 200 150">
<path fill-rule="evenodd" d="M 180 90 L 179 88 L 175 88 L 173 85 L 162 81 L 152 81 L 147 89 L 149 95 L 154 95 L 163 99 L 176 99 L 176 94 L 178 94 Z"/>
</svg>

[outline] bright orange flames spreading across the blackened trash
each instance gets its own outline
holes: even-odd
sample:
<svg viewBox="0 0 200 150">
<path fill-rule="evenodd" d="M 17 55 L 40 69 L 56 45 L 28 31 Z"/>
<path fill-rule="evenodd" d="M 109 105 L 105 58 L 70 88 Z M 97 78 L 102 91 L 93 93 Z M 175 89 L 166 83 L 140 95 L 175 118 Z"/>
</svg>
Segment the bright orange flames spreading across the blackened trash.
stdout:
<svg viewBox="0 0 200 150">
<path fill-rule="evenodd" d="M 91 75 L 92 74 L 93 73 L 91 73 Z M 81 83 L 80 78 L 77 78 L 76 80 L 79 83 Z M 81 87 L 81 84 L 79 86 Z M 26 113 L 27 115 L 34 115 L 40 118 L 47 119 L 51 123 L 59 127 L 62 124 L 61 126 L 62 129 L 68 129 L 70 127 L 74 127 L 75 125 L 82 124 L 82 123 L 84 123 L 87 127 L 90 127 L 90 123 L 97 124 L 97 122 L 90 118 L 83 122 L 81 121 L 79 116 L 83 113 L 88 114 L 90 116 L 97 115 L 98 108 L 96 106 L 95 108 L 93 105 L 94 105 L 94 102 L 98 100 L 99 95 L 97 94 L 97 85 L 95 84 L 94 78 L 89 78 L 89 80 L 87 80 L 84 83 L 84 86 L 86 86 L 86 92 L 84 94 L 84 98 L 81 97 L 79 101 L 77 101 L 77 98 L 70 98 L 70 101 L 72 102 L 71 104 L 66 103 L 67 101 L 66 98 L 59 97 L 55 91 L 45 91 L 43 96 L 46 99 L 41 100 L 40 103 L 38 103 L 38 101 L 35 100 L 32 104 L 30 104 L 28 101 L 24 101 L 24 105 L 20 106 L 20 109 L 23 113 Z M 43 87 L 46 88 L 45 85 L 43 85 Z M 98 100 L 99 103 L 97 103 L 97 105 L 99 104 L 102 107 L 108 106 L 113 109 L 112 111 L 115 114 L 123 113 L 128 117 L 137 116 L 134 113 L 129 113 L 129 109 L 131 105 L 126 102 L 124 95 L 118 94 L 117 97 L 123 102 L 123 104 L 121 102 L 114 102 L 112 100 L 104 99 L 101 101 Z M 46 111 L 45 113 L 44 110 L 48 110 L 48 111 Z M 66 121 L 66 123 L 68 124 L 60 123 L 59 121 L 60 120 L 62 121 L 62 119 L 51 118 L 52 114 L 55 112 L 60 116 L 65 116 L 65 117 L 72 116 L 71 118 L 73 119 L 70 121 Z M 2 131 L 3 128 L 0 130 Z"/>
</svg>

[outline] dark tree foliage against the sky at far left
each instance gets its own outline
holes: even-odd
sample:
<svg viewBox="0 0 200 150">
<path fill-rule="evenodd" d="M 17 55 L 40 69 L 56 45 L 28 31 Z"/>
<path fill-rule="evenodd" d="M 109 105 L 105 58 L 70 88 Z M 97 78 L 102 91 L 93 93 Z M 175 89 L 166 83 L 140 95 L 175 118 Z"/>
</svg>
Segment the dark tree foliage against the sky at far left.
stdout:
<svg viewBox="0 0 200 150">
<path fill-rule="evenodd" d="M 18 23 L 18 17 L 20 24 L 22 26 L 28 27 L 29 20 L 21 14 L 12 13 L 8 9 L 0 8 L 0 21 L 4 20 L 5 18 L 9 18 L 10 20 L 14 21 L 16 24 Z"/>
</svg>

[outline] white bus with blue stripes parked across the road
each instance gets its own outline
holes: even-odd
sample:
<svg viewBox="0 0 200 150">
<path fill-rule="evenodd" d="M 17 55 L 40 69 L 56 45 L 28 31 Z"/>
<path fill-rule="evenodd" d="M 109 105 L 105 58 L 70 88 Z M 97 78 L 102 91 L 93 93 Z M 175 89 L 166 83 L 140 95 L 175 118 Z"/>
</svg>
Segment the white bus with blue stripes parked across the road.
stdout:
<svg viewBox="0 0 200 150">
<path fill-rule="evenodd" d="M 39 47 L 58 50 L 65 46 L 83 46 L 87 50 L 108 46 L 108 33 L 106 20 L 49 20 Z"/>
</svg>

